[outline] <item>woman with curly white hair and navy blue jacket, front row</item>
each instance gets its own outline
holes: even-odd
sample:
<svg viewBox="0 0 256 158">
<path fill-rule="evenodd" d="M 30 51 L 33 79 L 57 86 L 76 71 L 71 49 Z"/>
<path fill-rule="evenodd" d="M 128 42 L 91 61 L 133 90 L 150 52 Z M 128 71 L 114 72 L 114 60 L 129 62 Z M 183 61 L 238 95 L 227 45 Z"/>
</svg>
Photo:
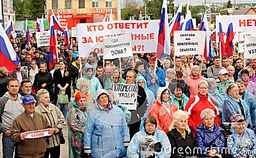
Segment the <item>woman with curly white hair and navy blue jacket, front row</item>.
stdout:
<svg viewBox="0 0 256 158">
<path fill-rule="evenodd" d="M 205 109 L 200 114 L 202 125 L 196 130 L 196 147 L 200 148 L 200 156 L 221 157 L 222 148 L 225 145 L 225 138 L 221 134 L 221 128 L 214 124 L 215 112 L 212 109 Z"/>
</svg>

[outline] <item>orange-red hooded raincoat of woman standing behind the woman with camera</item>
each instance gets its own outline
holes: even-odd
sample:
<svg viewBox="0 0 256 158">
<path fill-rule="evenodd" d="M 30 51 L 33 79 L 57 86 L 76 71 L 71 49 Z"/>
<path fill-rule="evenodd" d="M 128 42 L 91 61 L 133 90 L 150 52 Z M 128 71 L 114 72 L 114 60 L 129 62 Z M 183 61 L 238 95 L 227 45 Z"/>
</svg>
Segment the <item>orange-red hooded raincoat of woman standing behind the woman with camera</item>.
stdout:
<svg viewBox="0 0 256 158">
<path fill-rule="evenodd" d="M 177 106 L 173 103 L 170 104 L 170 114 L 166 108 L 159 103 L 156 99 L 154 104 L 148 109 L 148 116 L 154 116 L 157 120 L 157 128 L 164 131 L 166 134 L 169 132 L 169 127 L 172 124 L 173 113 L 177 111 Z"/>
</svg>

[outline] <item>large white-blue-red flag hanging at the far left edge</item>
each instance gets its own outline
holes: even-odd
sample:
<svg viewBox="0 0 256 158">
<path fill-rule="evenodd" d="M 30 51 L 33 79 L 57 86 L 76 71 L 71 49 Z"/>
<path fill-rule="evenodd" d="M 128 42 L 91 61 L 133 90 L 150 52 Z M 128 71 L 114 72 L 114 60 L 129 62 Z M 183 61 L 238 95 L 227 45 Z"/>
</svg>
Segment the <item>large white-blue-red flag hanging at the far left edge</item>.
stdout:
<svg viewBox="0 0 256 158">
<path fill-rule="evenodd" d="M 11 75 L 15 70 L 20 60 L 16 52 L 13 50 L 12 43 L 3 26 L 0 26 L 0 67 L 5 66 L 8 69 L 8 74 Z"/>
</svg>

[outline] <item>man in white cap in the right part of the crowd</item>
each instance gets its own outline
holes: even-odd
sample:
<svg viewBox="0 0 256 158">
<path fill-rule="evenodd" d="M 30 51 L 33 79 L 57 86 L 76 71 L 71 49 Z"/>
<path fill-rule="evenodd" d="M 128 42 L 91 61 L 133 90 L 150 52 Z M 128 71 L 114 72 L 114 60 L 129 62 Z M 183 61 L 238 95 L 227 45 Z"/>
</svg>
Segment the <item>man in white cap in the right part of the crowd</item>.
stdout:
<svg viewBox="0 0 256 158">
<path fill-rule="evenodd" d="M 230 83 L 234 83 L 228 80 L 228 71 L 226 69 L 221 69 L 219 72 L 219 78 L 216 79 L 216 87 L 218 92 L 224 96 L 225 90 L 227 89 L 227 85 Z"/>
</svg>

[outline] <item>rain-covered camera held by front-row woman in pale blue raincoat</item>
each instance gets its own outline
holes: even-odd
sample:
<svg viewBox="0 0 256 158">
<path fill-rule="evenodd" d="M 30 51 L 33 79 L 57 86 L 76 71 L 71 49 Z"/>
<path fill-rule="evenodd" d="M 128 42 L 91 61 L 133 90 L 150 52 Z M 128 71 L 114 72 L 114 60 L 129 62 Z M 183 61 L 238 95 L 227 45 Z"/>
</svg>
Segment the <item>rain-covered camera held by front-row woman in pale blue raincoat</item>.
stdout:
<svg viewBox="0 0 256 158">
<path fill-rule="evenodd" d="M 155 152 L 161 152 L 162 145 L 154 136 L 143 134 L 140 138 L 140 155 L 143 157 L 155 157 Z"/>
</svg>

